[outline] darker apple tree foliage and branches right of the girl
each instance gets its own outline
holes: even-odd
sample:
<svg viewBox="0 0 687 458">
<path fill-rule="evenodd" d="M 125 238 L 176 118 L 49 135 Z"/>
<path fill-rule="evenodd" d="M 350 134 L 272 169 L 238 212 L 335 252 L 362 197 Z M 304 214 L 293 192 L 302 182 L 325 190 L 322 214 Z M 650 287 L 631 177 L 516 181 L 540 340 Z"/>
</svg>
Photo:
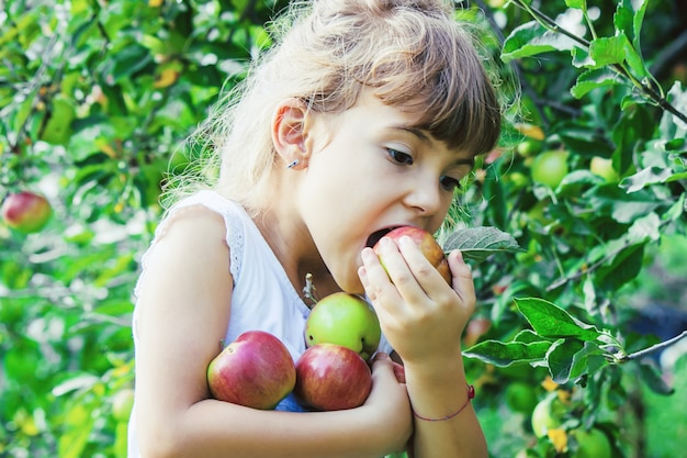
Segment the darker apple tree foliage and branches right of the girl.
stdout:
<svg viewBox="0 0 687 458">
<path fill-rule="evenodd" d="M 492 454 L 678 455 L 649 424 L 687 376 L 685 7 L 476 3 L 518 88 L 457 215 L 520 248 L 475 266 L 463 337 Z"/>
</svg>

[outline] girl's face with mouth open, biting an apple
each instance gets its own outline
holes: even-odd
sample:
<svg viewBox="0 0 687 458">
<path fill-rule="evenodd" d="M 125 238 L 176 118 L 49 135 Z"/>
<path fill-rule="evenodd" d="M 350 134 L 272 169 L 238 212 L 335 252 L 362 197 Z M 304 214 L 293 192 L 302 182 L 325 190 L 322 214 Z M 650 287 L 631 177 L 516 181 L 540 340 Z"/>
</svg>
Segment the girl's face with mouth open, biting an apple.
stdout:
<svg viewBox="0 0 687 458">
<path fill-rule="evenodd" d="M 416 113 L 373 94 L 341 114 L 316 115 L 299 211 L 344 290 L 362 293 L 360 252 L 379 231 L 410 224 L 435 232 L 472 156 L 414 127 Z"/>
</svg>

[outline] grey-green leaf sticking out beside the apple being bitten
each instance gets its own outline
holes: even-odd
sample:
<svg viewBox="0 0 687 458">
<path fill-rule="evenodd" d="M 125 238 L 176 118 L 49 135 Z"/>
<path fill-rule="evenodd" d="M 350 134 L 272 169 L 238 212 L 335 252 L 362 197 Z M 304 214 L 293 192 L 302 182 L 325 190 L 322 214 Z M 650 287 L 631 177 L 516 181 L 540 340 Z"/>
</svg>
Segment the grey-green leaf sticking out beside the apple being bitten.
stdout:
<svg viewBox="0 0 687 458">
<path fill-rule="evenodd" d="M 466 227 L 457 230 L 446 237 L 443 249 L 460 249 L 465 259 L 477 262 L 496 253 L 521 252 L 513 235 L 496 227 Z"/>
</svg>

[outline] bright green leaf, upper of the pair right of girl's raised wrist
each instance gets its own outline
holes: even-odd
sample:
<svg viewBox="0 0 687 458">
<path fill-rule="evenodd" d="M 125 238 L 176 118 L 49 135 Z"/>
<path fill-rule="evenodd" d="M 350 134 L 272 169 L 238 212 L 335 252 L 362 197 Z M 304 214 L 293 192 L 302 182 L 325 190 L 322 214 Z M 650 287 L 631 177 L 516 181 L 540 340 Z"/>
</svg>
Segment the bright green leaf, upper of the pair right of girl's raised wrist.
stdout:
<svg viewBox="0 0 687 458">
<path fill-rule="evenodd" d="M 514 299 L 514 302 L 532 329 L 541 337 L 575 337 L 581 340 L 595 340 L 602 335 L 596 327 L 582 323 L 565 310 L 544 299 Z"/>
</svg>

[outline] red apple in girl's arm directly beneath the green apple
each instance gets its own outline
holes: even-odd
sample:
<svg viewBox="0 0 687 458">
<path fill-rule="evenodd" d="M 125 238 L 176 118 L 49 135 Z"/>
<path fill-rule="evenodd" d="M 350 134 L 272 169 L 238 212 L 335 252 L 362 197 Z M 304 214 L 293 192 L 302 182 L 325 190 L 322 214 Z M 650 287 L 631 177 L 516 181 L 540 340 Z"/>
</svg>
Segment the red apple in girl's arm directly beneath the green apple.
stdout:
<svg viewBox="0 0 687 458">
<path fill-rule="evenodd" d="M 299 403 L 313 411 L 339 411 L 362 405 L 372 388 L 368 364 L 350 348 L 317 344 L 296 361 Z"/>
</svg>

